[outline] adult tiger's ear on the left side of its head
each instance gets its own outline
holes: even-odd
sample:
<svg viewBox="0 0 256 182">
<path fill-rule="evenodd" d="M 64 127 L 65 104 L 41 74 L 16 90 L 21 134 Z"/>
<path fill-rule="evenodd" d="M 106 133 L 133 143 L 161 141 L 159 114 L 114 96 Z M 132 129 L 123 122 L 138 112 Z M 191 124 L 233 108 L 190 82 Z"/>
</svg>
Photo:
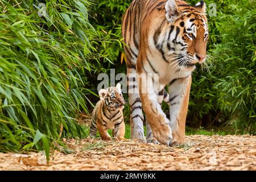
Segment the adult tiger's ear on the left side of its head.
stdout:
<svg viewBox="0 0 256 182">
<path fill-rule="evenodd" d="M 177 6 L 176 0 L 168 0 L 166 2 L 166 19 L 168 20 L 168 22 L 174 22 L 179 13 L 180 10 Z"/>
</svg>

